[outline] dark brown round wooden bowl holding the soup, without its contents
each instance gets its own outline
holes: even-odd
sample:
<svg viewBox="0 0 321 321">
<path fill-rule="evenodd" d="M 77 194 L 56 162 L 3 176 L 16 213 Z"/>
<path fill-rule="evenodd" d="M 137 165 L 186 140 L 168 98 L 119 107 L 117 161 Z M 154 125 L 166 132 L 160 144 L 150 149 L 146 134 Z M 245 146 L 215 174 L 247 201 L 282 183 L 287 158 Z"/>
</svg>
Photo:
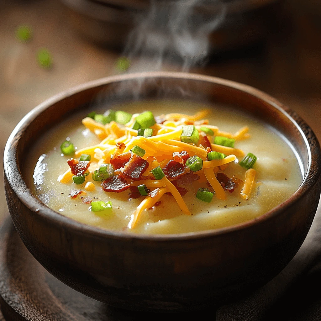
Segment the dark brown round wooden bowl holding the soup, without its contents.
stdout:
<svg viewBox="0 0 321 321">
<path fill-rule="evenodd" d="M 48 128 L 103 96 L 110 102 L 193 97 L 231 104 L 276 128 L 302 160 L 304 180 L 284 203 L 238 225 L 174 235 L 131 235 L 67 218 L 39 201 L 23 179 L 30 146 Z M 98 97 L 98 98 L 97 98 Z M 320 146 L 293 111 L 252 87 L 187 73 L 107 77 L 64 91 L 30 111 L 4 151 L 14 225 L 31 254 L 59 280 L 115 307 L 183 311 L 244 295 L 279 273 L 312 223 L 320 197 Z"/>
</svg>

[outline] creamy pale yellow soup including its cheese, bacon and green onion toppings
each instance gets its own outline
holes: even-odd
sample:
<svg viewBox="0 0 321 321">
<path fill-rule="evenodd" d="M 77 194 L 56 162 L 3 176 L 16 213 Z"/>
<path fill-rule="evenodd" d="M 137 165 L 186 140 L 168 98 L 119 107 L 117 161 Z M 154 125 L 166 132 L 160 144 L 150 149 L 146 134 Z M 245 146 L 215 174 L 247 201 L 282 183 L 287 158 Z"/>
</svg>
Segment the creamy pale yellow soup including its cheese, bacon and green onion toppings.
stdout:
<svg viewBox="0 0 321 321">
<path fill-rule="evenodd" d="M 48 131 L 25 176 L 56 212 L 142 234 L 218 229 L 293 194 L 301 165 L 270 127 L 239 111 L 147 101 L 78 114 Z"/>
</svg>

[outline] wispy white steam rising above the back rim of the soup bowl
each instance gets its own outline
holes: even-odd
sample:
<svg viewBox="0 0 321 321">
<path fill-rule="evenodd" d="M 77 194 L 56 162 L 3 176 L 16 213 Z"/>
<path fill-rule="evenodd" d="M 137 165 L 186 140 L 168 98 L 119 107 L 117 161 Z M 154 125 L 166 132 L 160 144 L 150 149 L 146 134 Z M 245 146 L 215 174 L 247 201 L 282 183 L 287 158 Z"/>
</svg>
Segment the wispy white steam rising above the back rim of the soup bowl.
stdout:
<svg viewBox="0 0 321 321">
<path fill-rule="evenodd" d="M 188 71 L 204 61 L 209 35 L 224 17 L 225 6 L 218 0 L 152 0 L 127 39 L 124 56 L 138 58 L 129 71 L 157 71 L 173 60 Z"/>
</svg>

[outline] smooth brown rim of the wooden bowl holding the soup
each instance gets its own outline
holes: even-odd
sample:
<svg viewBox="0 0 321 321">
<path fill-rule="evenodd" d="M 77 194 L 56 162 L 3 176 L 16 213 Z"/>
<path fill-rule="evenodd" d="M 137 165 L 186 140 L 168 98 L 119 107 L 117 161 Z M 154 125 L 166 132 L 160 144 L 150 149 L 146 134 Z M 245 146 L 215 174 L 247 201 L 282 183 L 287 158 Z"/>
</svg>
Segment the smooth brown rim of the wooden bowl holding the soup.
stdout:
<svg viewBox="0 0 321 321">
<path fill-rule="evenodd" d="M 73 95 L 77 92 L 86 90 L 91 87 L 100 86 L 112 82 L 119 82 L 122 80 L 130 80 L 134 78 L 153 78 L 153 77 L 164 77 L 164 78 L 183 78 L 189 80 L 200 80 L 200 81 L 208 81 L 228 87 L 233 87 L 240 91 L 246 92 L 249 95 L 259 98 L 260 100 L 264 100 L 268 104 L 272 105 L 274 108 L 279 110 L 282 114 L 284 114 L 287 118 L 291 120 L 294 126 L 296 126 L 297 130 L 300 132 L 304 141 L 306 143 L 306 147 L 308 150 L 308 167 L 307 172 L 304 175 L 303 182 L 299 186 L 296 192 L 294 192 L 285 202 L 279 204 L 274 207 L 272 210 L 266 212 L 265 214 L 254 218 L 252 220 L 239 223 L 236 225 L 215 229 L 215 230 L 204 230 L 198 232 L 189 232 L 189 233 L 181 233 L 181 234 L 155 234 L 155 235 L 142 235 L 142 234 L 134 234 L 134 233 L 125 233 L 118 232 L 112 230 L 104 230 L 98 227 L 90 226 L 85 223 L 80 223 L 74 221 L 71 218 L 68 218 L 54 210 L 50 209 L 44 203 L 42 203 L 35 195 L 32 194 L 26 182 L 24 181 L 21 170 L 17 163 L 17 145 L 20 137 L 22 136 L 23 131 L 26 127 L 29 126 L 29 123 L 42 111 L 44 111 L 48 106 L 56 103 L 59 100 L 62 100 L 70 95 Z M 125 238 L 125 239 L 151 239 L 151 240 L 159 240 L 159 241 L 171 241 L 173 239 L 195 239 L 195 238 L 207 238 L 212 237 L 213 235 L 219 235 L 223 233 L 231 233 L 236 230 L 249 228 L 258 222 L 266 221 L 273 218 L 276 215 L 279 215 L 285 208 L 290 207 L 293 203 L 295 203 L 300 197 L 302 197 L 305 193 L 307 193 L 310 188 L 315 184 L 317 178 L 319 176 L 319 171 L 311 170 L 311 149 L 308 143 L 307 137 L 303 133 L 300 126 L 295 122 L 295 120 L 284 110 L 281 108 L 282 103 L 268 94 L 259 91 L 251 86 L 247 86 L 238 82 L 221 79 L 218 77 L 206 76 L 201 74 L 190 74 L 190 73 L 181 73 L 181 72 L 146 72 L 146 73 L 135 73 L 135 74 L 122 74 L 116 76 L 109 76 L 105 78 L 101 78 L 98 80 L 94 80 L 91 82 L 87 82 L 73 88 L 70 88 L 66 91 L 58 93 L 48 100 L 44 101 L 34 109 L 32 109 L 26 116 L 22 118 L 22 120 L 18 123 L 18 125 L 14 128 L 13 132 L 9 136 L 7 144 L 4 149 L 4 174 L 8 179 L 10 186 L 12 187 L 14 193 L 18 196 L 18 198 L 25 204 L 28 208 L 30 208 L 33 212 L 36 212 L 38 215 L 43 216 L 45 219 L 51 220 L 53 223 L 56 223 L 61 226 L 61 228 L 69 228 L 73 229 L 76 233 L 88 233 L 92 237 L 95 238 Z M 304 126 L 308 127 L 308 125 L 304 124 Z M 318 165 L 316 165 L 318 166 Z M 19 173 L 15 176 L 9 174 L 10 172 Z M 17 185 L 20 184 L 19 189 Z M 22 192 L 23 191 L 23 192 Z"/>
</svg>

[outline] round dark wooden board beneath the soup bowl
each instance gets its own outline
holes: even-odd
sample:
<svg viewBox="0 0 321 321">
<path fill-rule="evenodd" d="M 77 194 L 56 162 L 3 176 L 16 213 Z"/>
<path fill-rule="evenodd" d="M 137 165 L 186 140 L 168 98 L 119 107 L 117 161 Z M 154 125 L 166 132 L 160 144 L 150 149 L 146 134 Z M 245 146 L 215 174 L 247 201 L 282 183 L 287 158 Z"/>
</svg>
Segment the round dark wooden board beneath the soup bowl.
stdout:
<svg viewBox="0 0 321 321">
<path fill-rule="evenodd" d="M 134 321 L 198 317 L 215 311 L 172 315 L 121 310 L 91 299 L 57 280 L 29 253 L 8 217 L 0 229 L 0 303 L 12 321 Z M 0 317 L 0 321 L 1 321 Z"/>
</svg>

